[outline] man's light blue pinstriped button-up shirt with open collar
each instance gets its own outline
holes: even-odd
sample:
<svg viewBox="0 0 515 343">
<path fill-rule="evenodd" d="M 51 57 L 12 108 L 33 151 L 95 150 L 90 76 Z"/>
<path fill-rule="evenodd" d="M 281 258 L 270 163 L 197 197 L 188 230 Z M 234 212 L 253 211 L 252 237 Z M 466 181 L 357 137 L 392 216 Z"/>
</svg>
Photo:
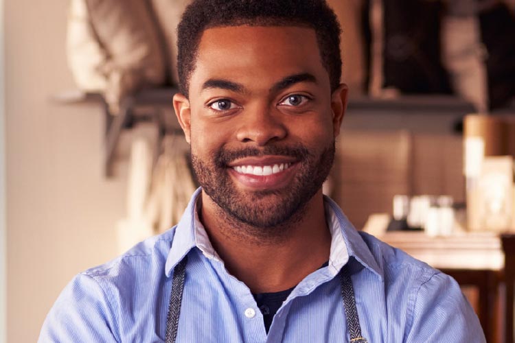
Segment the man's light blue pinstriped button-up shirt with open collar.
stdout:
<svg viewBox="0 0 515 343">
<path fill-rule="evenodd" d="M 188 257 L 176 342 L 348 342 L 339 270 L 350 263 L 363 336 L 378 342 L 485 342 L 450 276 L 366 233 L 332 200 L 330 261 L 295 287 L 266 335 L 249 288 L 225 269 L 196 215 L 78 276 L 50 310 L 39 342 L 163 342 L 174 266 Z M 309 252 L 306 252 L 309 253 Z"/>
</svg>

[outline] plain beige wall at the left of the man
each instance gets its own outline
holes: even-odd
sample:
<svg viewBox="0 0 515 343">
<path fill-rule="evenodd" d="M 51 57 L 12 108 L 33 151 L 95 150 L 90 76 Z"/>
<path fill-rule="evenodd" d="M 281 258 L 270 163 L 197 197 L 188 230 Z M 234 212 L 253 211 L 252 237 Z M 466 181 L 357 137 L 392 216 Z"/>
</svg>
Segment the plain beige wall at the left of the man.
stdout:
<svg viewBox="0 0 515 343">
<path fill-rule="evenodd" d="M 73 88 L 69 1 L 4 3 L 8 342 L 36 342 L 73 275 L 115 257 L 125 179 L 102 175 L 100 107 L 51 100 Z"/>
</svg>

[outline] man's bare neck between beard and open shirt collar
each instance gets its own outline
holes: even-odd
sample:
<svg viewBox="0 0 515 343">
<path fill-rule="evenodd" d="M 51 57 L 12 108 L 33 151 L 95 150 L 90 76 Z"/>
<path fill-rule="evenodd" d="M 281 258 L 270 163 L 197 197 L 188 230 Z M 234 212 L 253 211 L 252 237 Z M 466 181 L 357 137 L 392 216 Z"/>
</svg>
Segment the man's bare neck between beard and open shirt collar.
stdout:
<svg viewBox="0 0 515 343">
<path fill-rule="evenodd" d="M 331 234 L 320 190 L 288 223 L 255 228 L 220 215 L 205 193 L 201 220 L 227 270 L 253 293 L 294 287 L 328 261 Z"/>
</svg>

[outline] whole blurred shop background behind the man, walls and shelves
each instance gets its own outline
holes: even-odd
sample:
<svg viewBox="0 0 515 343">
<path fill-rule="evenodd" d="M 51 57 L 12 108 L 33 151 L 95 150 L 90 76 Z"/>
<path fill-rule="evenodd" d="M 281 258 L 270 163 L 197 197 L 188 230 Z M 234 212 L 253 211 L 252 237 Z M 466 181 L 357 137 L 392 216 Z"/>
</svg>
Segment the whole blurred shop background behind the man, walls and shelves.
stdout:
<svg viewBox="0 0 515 343">
<path fill-rule="evenodd" d="M 75 274 L 179 219 L 188 2 L 0 1 L 0 343 L 35 342 Z M 351 100 L 325 193 L 513 342 L 515 1 L 328 2 Z"/>
</svg>

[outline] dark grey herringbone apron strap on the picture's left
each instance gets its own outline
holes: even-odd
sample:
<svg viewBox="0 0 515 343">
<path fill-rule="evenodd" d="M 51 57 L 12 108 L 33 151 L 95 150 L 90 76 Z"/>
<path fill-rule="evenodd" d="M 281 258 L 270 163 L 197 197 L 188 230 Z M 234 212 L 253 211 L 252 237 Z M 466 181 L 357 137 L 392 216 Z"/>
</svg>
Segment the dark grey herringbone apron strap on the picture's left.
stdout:
<svg viewBox="0 0 515 343">
<path fill-rule="evenodd" d="M 186 272 L 187 256 L 185 256 L 174 268 L 172 279 L 172 293 L 170 294 L 170 305 L 168 307 L 168 318 L 166 318 L 166 343 L 174 343 L 179 327 L 179 316 L 181 316 L 181 303 L 183 300 L 184 279 Z"/>
</svg>

